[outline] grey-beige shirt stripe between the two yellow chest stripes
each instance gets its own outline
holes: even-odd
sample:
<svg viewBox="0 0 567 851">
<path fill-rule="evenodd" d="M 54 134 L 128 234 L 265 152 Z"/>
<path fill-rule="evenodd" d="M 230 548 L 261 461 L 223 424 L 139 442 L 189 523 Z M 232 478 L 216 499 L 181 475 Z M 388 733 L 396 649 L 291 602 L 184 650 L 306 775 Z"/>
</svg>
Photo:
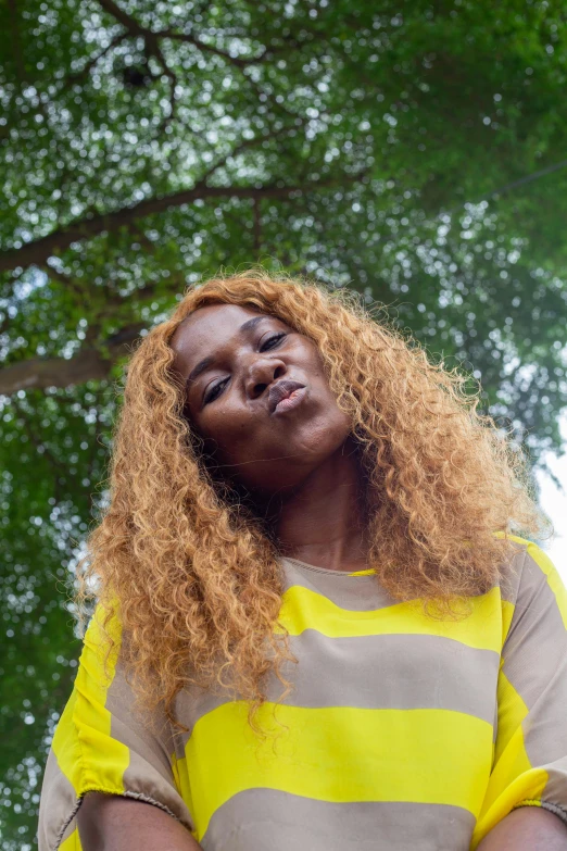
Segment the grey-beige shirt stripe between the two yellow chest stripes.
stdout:
<svg viewBox="0 0 567 851">
<path fill-rule="evenodd" d="M 290 639 L 299 659 L 285 675 L 292 706 L 444 709 L 494 722 L 500 656 L 438 636 L 382 635 L 329 638 L 306 629 Z M 270 677 L 267 698 L 278 702 L 281 684 Z M 178 717 L 190 728 L 207 712 L 234 699 L 228 692 L 184 693 Z"/>
</svg>

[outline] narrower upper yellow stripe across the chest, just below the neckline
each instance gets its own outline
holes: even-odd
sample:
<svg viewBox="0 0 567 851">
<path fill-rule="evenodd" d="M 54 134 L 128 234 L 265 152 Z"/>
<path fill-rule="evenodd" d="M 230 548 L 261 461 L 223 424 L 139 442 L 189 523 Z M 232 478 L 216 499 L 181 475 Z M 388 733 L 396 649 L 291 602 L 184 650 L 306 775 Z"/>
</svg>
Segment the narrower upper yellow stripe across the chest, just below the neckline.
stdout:
<svg viewBox="0 0 567 851">
<path fill-rule="evenodd" d="M 500 588 L 469 598 L 471 613 L 461 621 L 436 621 L 424 614 L 420 601 L 356 612 L 340 609 L 331 600 L 294 585 L 284 593 L 280 623 L 290 635 L 316 629 L 331 638 L 371 635 L 429 635 L 452 638 L 481 650 L 502 649 Z"/>
</svg>

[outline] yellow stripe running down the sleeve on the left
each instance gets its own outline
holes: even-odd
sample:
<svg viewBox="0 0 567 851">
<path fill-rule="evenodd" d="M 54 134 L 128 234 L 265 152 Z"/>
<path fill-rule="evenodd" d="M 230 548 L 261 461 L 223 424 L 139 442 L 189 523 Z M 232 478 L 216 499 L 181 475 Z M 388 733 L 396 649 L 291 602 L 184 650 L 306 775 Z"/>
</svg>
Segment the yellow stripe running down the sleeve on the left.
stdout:
<svg viewBox="0 0 567 851">
<path fill-rule="evenodd" d="M 58 724 L 53 751 L 58 764 L 75 793 L 87 789 L 122 794 L 129 750 L 111 736 L 111 713 L 105 708 L 106 693 L 114 678 L 121 641 L 121 627 L 114 618 L 106 627 L 115 641 L 105 662 L 102 614 L 94 614 L 80 656 L 75 688 Z"/>
</svg>

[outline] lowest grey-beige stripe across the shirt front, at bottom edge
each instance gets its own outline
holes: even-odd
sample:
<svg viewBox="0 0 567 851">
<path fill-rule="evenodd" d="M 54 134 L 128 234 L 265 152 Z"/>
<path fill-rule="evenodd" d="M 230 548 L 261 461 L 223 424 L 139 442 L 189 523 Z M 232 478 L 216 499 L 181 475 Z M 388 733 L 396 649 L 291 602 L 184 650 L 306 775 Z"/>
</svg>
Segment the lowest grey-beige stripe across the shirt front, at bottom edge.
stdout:
<svg viewBox="0 0 567 851">
<path fill-rule="evenodd" d="M 249 789 L 213 815 L 203 851 L 468 851 L 475 816 L 448 804 L 330 803 Z"/>
</svg>

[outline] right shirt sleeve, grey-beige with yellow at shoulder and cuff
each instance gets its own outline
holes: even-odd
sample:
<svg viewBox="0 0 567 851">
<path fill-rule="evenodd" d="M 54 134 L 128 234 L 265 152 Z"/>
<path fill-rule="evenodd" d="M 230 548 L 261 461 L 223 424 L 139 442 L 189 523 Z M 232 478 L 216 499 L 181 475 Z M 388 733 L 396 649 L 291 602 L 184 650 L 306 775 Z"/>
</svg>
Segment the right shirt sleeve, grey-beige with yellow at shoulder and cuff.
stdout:
<svg viewBox="0 0 567 851">
<path fill-rule="evenodd" d="M 549 556 L 522 542 L 500 665 L 494 759 L 471 850 L 519 806 L 541 806 L 567 824 L 567 591 Z"/>
</svg>

